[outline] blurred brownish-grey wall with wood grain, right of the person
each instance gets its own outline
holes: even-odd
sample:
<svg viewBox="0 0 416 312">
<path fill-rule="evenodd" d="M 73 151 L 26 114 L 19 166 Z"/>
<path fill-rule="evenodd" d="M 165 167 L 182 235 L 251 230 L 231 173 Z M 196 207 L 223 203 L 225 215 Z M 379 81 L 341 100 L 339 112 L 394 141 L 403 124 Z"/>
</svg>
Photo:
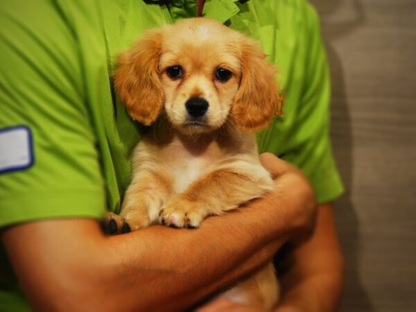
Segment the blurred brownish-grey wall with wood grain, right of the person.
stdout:
<svg viewBox="0 0 416 312">
<path fill-rule="evenodd" d="M 341 312 L 416 311 L 416 1 L 310 0 L 331 66 L 346 186 Z"/>
</svg>

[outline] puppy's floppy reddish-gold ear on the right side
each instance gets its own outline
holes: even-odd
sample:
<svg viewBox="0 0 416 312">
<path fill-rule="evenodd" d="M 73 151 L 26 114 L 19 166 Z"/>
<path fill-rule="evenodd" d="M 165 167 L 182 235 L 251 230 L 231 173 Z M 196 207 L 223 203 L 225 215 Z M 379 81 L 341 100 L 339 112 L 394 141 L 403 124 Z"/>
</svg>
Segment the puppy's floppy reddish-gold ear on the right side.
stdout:
<svg viewBox="0 0 416 312">
<path fill-rule="evenodd" d="M 252 40 L 242 42 L 241 53 L 242 74 L 232 116 L 240 130 L 250 132 L 266 127 L 281 101 L 276 69 L 266 61 L 266 54 Z"/>
</svg>

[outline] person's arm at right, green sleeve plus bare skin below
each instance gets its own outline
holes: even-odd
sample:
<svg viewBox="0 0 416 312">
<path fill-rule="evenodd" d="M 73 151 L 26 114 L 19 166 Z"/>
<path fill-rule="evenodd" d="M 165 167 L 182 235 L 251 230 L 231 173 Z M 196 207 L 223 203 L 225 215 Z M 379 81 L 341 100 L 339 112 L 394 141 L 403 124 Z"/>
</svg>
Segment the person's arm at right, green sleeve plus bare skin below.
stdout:
<svg viewBox="0 0 416 312">
<path fill-rule="evenodd" d="M 302 1 L 300 16 L 304 32 L 299 44 L 304 55 L 304 88 L 293 120 L 302 141 L 288 137 L 291 150 L 285 159 L 295 164 L 309 177 L 318 202 L 318 221 L 313 236 L 288 252 L 292 267 L 281 278 L 283 297 L 276 312 L 335 311 L 343 284 L 343 258 L 329 204 L 343 193 L 343 184 L 333 159 L 330 139 L 331 83 L 329 64 L 320 35 L 317 12 Z M 301 136 L 299 136 L 301 137 Z"/>
</svg>

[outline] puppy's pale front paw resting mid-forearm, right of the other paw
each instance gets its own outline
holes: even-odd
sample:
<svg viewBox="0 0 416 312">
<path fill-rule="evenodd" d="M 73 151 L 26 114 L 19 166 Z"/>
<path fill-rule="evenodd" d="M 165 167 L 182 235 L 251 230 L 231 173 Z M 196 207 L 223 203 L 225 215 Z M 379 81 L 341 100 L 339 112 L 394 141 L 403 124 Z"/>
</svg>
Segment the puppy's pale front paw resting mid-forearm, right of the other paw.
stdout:
<svg viewBox="0 0 416 312">
<path fill-rule="evenodd" d="M 159 222 L 170 227 L 198 227 L 208 215 L 203 202 L 191 201 L 177 196 L 162 207 Z"/>
</svg>

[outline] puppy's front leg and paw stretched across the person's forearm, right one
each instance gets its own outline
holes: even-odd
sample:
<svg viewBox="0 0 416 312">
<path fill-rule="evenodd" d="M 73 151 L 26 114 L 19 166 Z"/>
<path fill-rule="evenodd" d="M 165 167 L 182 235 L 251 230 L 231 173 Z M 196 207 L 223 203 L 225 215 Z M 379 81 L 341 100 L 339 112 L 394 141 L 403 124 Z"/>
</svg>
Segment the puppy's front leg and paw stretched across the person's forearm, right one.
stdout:
<svg viewBox="0 0 416 312">
<path fill-rule="evenodd" d="M 260 164 L 227 162 L 166 202 L 160 221 L 174 227 L 198 227 L 206 216 L 235 209 L 272 187 L 272 178 Z"/>
</svg>

